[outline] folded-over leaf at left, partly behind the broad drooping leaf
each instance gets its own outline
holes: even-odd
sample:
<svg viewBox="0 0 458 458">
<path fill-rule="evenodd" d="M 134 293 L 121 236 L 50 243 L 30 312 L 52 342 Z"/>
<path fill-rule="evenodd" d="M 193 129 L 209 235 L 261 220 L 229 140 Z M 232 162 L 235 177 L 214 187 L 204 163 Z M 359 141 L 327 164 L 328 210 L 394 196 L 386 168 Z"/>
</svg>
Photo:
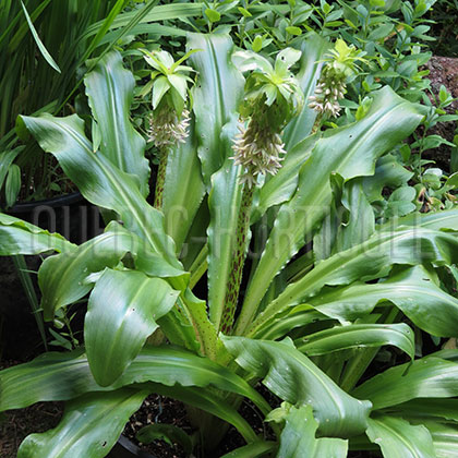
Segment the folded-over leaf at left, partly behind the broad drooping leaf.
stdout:
<svg viewBox="0 0 458 458">
<path fill-rule="evenodd" d="M 111 221 L 103 234 L 44 261 L 38 270 L 38 284 L 45 320 L 52 320 L 58 309 L 83 298 L 94 286 L 87 277 L 105 267 L 116 267 L 128 252 L 132 254 L 135 267 L 148 276 L 180 275 L 180 270 L 155 255 L 135 233 Z"/>
</svg>

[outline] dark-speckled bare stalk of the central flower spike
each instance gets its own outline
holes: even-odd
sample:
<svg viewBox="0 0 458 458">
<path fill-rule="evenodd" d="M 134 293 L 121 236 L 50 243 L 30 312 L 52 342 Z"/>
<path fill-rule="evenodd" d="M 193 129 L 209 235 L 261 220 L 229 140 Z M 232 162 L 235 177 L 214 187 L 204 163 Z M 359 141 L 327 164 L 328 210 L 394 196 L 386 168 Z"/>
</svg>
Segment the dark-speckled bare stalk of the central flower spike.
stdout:
<svg viewBox="0 0 458 458">
<path fill-rule="evenodd" d="M 242 280 L 243 265 L 249 243 L 249 229 L 251 207 L 253 204 L 254 186 L 249 182 L 243 184 L 242 203 L 240 205 L 239 219 L 237 222 L 236 251 L 232 257 L 230 277 L 226 294 L 225 311 L 221 317 L 220 330 L 230 334 L 236 315 L 237 301 L 239 299 L 240 284 Z"/>
</svg>

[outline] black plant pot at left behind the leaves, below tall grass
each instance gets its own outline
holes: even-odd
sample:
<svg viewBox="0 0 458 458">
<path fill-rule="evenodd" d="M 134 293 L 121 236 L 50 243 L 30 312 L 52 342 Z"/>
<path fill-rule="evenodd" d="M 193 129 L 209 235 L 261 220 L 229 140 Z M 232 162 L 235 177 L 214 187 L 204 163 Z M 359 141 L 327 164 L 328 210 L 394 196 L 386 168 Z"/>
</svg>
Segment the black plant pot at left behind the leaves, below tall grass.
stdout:
<svg viewBox="0 0 458 458">
<path fill-rule="evenodd" d="M 79 193 L 46 201 L 19 203 L 8 214 L 83 243 L 104 231 L 99 209 Z"/>
</svg>

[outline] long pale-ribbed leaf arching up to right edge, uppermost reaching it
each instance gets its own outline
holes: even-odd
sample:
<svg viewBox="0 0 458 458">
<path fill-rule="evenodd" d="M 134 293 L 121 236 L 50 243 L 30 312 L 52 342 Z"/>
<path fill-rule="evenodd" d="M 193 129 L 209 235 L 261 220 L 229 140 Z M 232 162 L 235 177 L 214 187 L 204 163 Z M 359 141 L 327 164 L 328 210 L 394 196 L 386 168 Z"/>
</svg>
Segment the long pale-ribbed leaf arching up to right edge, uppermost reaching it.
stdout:
<svg viewBox="0 0 458 458">
<path fill-rule="evenodd" d="M 393 264 L 453 264 L 458 260 L 458 238 L 451 233 L 412 227 L 377 232 L 366 242 L 322 261 L 300 280 L 289 285 L 252 325 L 255 329 L 287 306 L 316 294 L 325 285 L 348 285 L 387 275 Z"/>
</svg>

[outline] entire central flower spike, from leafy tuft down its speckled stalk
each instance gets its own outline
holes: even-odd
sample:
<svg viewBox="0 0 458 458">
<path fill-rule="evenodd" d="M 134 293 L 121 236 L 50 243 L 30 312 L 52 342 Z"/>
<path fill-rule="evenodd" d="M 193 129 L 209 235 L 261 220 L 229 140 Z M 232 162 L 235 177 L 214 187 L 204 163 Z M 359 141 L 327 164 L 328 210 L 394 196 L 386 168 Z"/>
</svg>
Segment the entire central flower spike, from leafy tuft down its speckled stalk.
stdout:
<svg viewBox="0 0 458 458">
<path fill-rule="evenodd" d="M 237 243 L 228 280 L 226 308 L 220 330 L 230 334 L 237 309 L 254 189 L 260 174 L 276 174 L 281 167 L 285 145 L 281 132 L 303 107 L 303 93 L 290 68 L 301 51 L 287 48 L 278 53 L 275 65 L 251 51 L 238 51 L 233 62 L 242 72 L 252 71 L 245 83 L 245 96 L 239 108 L 245 128 L 240 129 L 232 146 L 234 165 L 243 166 L 240 185 L 242 201 L 237 224 Z"/>
</svg>

